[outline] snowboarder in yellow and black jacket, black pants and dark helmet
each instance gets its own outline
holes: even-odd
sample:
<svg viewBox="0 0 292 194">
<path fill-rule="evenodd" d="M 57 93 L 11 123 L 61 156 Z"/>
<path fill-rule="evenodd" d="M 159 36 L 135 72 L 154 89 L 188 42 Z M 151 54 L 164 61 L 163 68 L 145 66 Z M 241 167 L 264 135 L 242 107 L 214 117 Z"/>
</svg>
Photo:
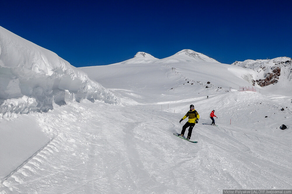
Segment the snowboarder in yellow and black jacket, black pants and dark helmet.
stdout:
<svg viewBox="0 0 292 194">
<path fill-rule="evenodd" d="M 187 140 L 189 140 L 191 138 L 192 135 L 192 130 L 195 126 L 196 123 L 198 123 L 200 115 L 199 113 L 195 110 L 194 105 L 190 105 L 190 110 L 187 112 L 187 114 L 185 114 L 185 116 L 180 119 L 180 122 L 183 121 L 183 119 L 189 117 L 189 120 L 184 124 L 182 132 L 180 133 L 180 136 L 184 136 L 185 134 L 185 130 L 187 129 L 187 127 L 189 127 L 189 132 L 187 134 Z"/>
</svg>

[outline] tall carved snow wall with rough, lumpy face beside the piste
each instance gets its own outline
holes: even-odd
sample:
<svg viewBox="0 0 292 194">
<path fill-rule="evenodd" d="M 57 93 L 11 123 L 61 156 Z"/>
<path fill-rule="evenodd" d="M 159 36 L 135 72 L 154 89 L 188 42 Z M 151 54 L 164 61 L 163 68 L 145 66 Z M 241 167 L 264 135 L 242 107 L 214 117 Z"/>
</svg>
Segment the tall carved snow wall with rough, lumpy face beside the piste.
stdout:
<svg viewBox="0 0 292 194">
<path fill-rule="evenodd" d="M 120 99 L 56 53 L 0 26 L 0 118 L 88 99 Z"/>
</svg>

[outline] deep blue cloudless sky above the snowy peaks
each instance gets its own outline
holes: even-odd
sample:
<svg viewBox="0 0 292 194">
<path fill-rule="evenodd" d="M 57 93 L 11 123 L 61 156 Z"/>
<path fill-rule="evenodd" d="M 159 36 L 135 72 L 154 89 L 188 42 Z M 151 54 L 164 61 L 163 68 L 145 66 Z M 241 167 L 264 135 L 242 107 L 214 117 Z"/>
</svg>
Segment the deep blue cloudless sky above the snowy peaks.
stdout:
<svg viewBox="0 0 292 194">
<path fill-rule="evenodd" d="M 291 1 L 6 1 L 0 26 L 75 67 L 183 49 L 221 63 L 292 57 Z"/>
</svg>

